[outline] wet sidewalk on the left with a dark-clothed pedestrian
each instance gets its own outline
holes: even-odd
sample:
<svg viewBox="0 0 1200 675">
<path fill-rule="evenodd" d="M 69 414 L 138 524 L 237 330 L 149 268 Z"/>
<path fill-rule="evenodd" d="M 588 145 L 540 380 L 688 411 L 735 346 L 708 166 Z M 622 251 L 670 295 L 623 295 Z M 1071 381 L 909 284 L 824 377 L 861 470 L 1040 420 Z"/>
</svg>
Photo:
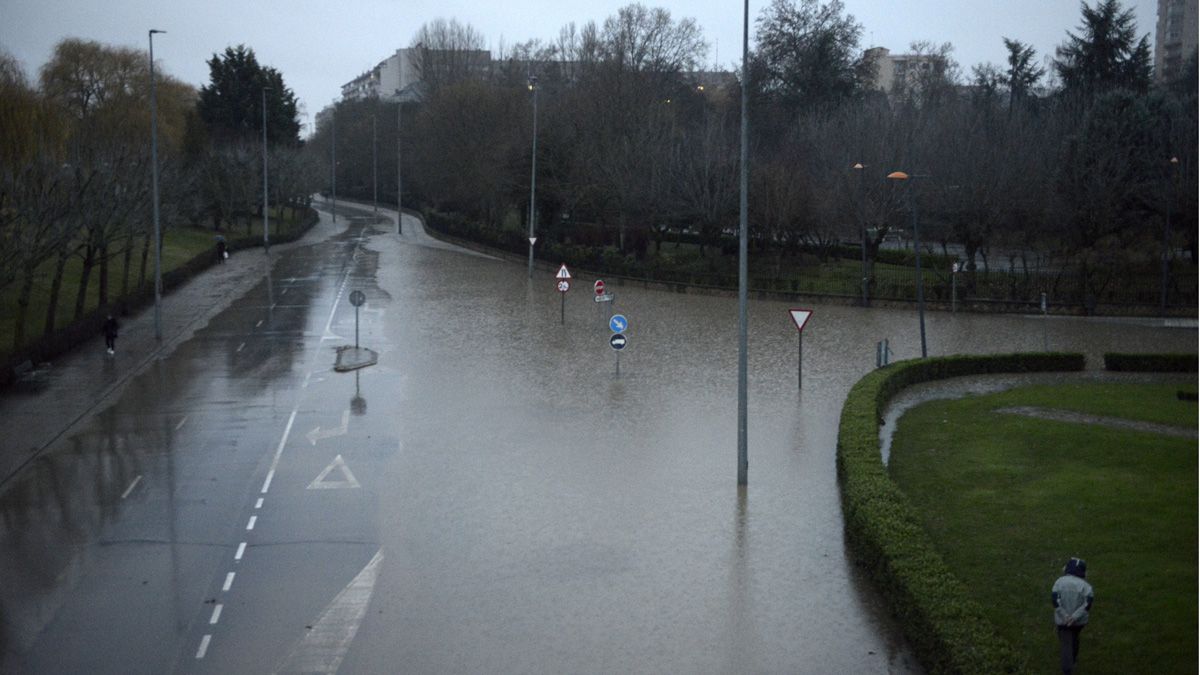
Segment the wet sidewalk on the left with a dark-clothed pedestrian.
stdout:
<svg viewBox="0 0 1200 675">
<path fill-rule="evenodd" d="M 407 222 L 407 219 L 406 219 Z M 271 246 L 270 262 L 294 247 L 326 239 L 346 227 L 325 211 L 298 241 Z M 154 336 L 154 304 L 121 319 L 116 354 L 104 353 L 104 340 L 94 340 L 36 364 L 18 382 L 0 392 L 0 485 L 59 438 L 115 401 L 125 384 L 155 359 L 163 359 L 199 328 L 260 281 L 268 256 L 262 249 L 238 251 L 226 264 L 212 265 L 162 298 L 162 340 Z"/>
</svg>

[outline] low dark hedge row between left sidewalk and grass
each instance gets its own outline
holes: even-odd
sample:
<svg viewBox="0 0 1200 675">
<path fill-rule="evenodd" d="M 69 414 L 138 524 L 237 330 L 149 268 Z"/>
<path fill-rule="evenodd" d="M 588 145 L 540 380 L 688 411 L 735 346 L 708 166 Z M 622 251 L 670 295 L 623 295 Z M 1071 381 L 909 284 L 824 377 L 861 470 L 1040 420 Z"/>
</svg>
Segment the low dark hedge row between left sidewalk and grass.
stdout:
<svg viewBox="0 0 1200 675">
<path fill-rule="evenodd" d="M 304 237 L 305 233 L 317 223 L 317 211 L 307 209 L 301 216 L 299 223 L 272 234 L 271 243 L 287 244 L 289 241 L 295 241 L 296 239 Z M 252 249 L 262 246 L 262 238 L 254 235 L 233 237 L 227 240 L 227 245 L 230 251 Z M 193 276 L 216 264 L 216 249 L 214 247 L 200 251 L 179 267 L 164 270 L 162 273 L 163 292 L 166 293 L 172 288 L 182 286 Z M 109 312 L 124 316 L 152 303 L 154 282 L 151 280 L 150 283 L 144 283 L 140 288 L 131 291 L 130 293 L 113 300 L 108 305 L 96 307 L 90 312 L 84 313 L 78 321 L 72 321 L 62 328 L 43 335 L 37 341 L 32 342 L 20 352 L 13 353 L 6 359 L 4 368 L 0 368 L 0 387 L 12 384 L 18 375 L 17 369 L 19 369 L 22 364 L 36 364 L 53 359 L 59 354 L 64 354 L 88 340 L 94 339 L 96 335 L 100 335 L 101 328 L 104 325 L 104 318 Z"/>
</svg>

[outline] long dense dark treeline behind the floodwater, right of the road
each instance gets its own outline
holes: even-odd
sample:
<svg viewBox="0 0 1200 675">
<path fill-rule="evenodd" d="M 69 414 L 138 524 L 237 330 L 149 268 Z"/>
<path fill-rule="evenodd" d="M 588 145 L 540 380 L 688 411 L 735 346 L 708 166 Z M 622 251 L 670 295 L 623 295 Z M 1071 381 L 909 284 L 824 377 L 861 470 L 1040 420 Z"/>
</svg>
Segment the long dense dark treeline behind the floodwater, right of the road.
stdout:
<svg viewBox="0 0 1200 675">
<path fill-rule="evenodd" d="M 1189 251 L 1176 267 L 1194 275 L 1195 55 L 1176 82 L 1153 84 L 1148 41 L 1116 0 L 1085 5 L 1052 59 L 1003 38 L 1006 64 L 965 72 L 952 46 L 914 43 L 919 67 L 898 74 L 890 95 L 872 83 L 892 65 L 864 53 L 863 28 L 838 0 L 774 0 L 755 26 L 757 251 L 832 253 L 865 232 L 874 265 L 886 239 L 911 232 L 910 185 L 886 179 L 904 171 L 919 177 L 923 241 L 961 256 L 968 286 L 1001 257 L 1074 275 L 1100 297 L 1130 275 L 1157 281 L 1164 249 Z M 456 22 L 427 24 L 413 44 L 428 56 L 422 100 L 404 103 L 400 121 L 406 207 L 524 237 L 533 76 L 539 246 L 644 258 L 665 237 L 712 252 L 736 231 L 743 83 L 702 72 L 707 43 L 691 19 L 630 5 L 553 42 L 505 48 L 486 67 L 446 55 L 482 49 Z M 308 148 L 328 167 L 336 124 L 338 191 L 370 199 L 372 118 L 379 195 L 395 201 L 395 102 L 340 103 Z"/>
</svg>

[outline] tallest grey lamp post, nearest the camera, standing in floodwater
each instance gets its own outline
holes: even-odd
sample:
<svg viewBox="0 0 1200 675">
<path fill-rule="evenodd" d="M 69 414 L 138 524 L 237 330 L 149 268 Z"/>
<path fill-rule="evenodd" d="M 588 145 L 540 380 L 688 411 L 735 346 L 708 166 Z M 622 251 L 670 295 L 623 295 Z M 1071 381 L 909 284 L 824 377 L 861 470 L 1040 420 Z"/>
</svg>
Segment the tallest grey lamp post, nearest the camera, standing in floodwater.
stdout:
<svg viewBox="0 0 1200 675">
<path fill-rule="evenodd" d="M 750 467 L 748 438 L 746 381 L 749 371 L 749 339 L 746 335 L 746 305 L 749 295 L 749 221 L 750 221 L 750 0 L 742 7 L 742 175 L 738 198 L 738 485 L 746 485 Z"/>
</svg>

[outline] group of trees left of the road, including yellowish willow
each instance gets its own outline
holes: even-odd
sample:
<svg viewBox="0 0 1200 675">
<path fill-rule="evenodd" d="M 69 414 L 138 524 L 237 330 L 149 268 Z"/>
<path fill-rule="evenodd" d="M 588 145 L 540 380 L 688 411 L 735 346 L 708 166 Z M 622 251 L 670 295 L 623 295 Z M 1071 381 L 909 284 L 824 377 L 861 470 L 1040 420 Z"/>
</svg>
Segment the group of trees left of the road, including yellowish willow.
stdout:
<svg viewBox="0 0 1200 675">
<path fill-rule="evenodd" d="M 248 232 L 262 215 L 264 88 L 272 207 L 304 205 L 320 185 L 282 76 L 245 47 L 209 66 L 199 92 L 156 68 L 164 232 Z M 150 74 L 145 52 L 84 40 L 59 43 L 37 82 L 0 53 L 0 293 L 16 294 L 13 351 L 79 319 L 90 294 L 103 307 L 154 283 Z M 43 316 L 30 316 L 35 289 L 48 294 Z"/>
</svg>

